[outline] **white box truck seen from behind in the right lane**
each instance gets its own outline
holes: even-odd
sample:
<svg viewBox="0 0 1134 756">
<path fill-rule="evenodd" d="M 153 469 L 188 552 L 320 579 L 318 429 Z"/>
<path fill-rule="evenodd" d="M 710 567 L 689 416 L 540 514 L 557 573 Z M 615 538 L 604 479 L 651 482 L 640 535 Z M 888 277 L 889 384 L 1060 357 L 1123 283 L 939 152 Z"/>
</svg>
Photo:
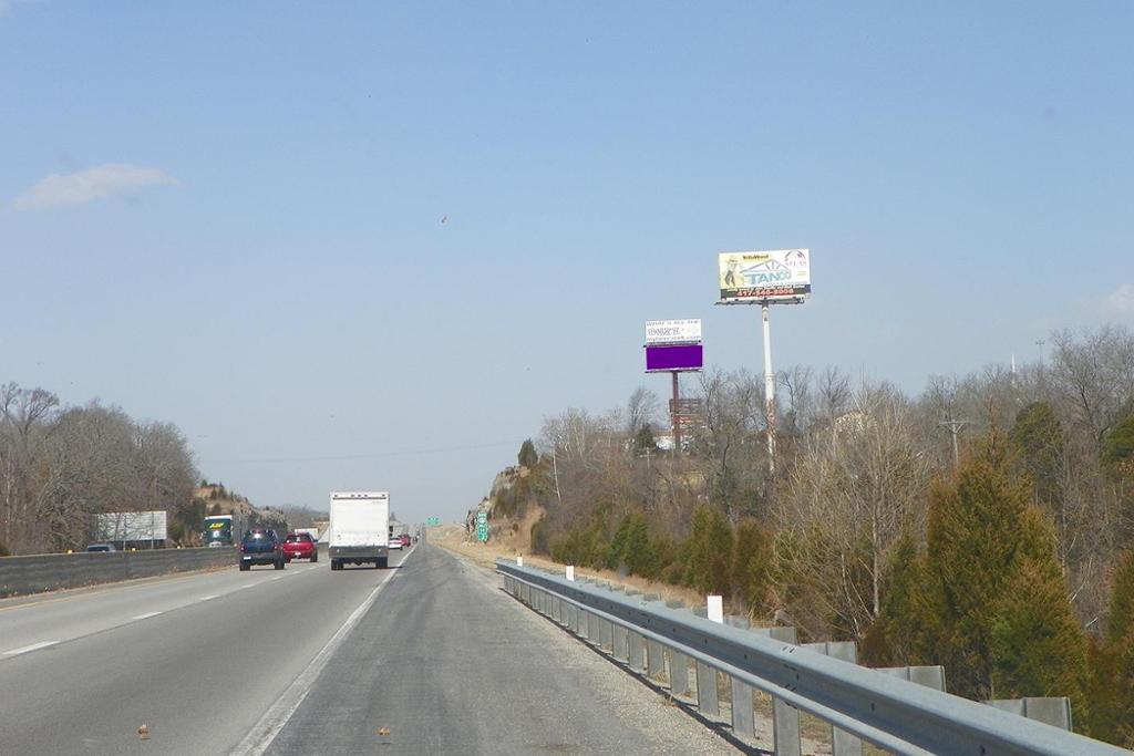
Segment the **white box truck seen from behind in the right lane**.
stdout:
<svg viewBox="0 0 1134 756">
<path fill-rule="evenodd" d="M 331 524 L 328 555 L 331 569 L 346 563 L 389 564 L 390 494 L 384 491 L 336 491 L 331 493 Z"/>
</svg>

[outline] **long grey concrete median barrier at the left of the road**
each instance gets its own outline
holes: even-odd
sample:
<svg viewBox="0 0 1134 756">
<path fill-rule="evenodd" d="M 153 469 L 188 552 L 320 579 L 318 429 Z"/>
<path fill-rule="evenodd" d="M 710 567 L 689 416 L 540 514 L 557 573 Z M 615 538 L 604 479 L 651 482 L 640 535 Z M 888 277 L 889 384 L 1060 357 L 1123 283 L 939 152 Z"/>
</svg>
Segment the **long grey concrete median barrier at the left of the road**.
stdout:
<svg viewBox="0 0 1134 756">
<path fill-rule="evenodd" d="M 0 597 L 236 564 L 237 551 L 155 549 L 0 558 Z"/>
</svg>

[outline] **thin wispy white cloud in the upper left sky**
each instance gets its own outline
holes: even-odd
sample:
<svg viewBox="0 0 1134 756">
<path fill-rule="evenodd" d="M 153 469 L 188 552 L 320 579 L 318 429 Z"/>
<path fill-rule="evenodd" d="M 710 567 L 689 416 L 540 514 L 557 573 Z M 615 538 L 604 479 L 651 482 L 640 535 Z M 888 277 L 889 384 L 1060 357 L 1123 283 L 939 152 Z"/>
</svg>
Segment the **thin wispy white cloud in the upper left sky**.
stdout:
<svg viewBox="0 0 1134 756">
<path fill-rule="evenodd" d="M 156 168 L 107 163 L 74 173 L 44 176 L 35 186 L 12 199 L 11 209 L 27 211 L 85 205 L 152 186 L 180 186 L 180 182 Z"/>
</svg>

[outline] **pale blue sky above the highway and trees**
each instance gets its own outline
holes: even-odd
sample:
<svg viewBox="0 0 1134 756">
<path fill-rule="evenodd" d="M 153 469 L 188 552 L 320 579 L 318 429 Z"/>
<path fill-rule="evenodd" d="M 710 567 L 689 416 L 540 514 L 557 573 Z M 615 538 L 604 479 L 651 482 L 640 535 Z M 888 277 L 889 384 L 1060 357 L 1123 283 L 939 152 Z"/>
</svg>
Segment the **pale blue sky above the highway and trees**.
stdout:
<svg viewBox="0 0 1134 756">
<path fill-rule="evenodd" d="M 0 381 L 421 519 L 665 393 L 645 320 L 759 371 L 720 250 L 812 250 L 777 367 L 1034 359 L 1134 325 L 1131 39 L 1125 1 L 0 0 Z"/>
</svg>

